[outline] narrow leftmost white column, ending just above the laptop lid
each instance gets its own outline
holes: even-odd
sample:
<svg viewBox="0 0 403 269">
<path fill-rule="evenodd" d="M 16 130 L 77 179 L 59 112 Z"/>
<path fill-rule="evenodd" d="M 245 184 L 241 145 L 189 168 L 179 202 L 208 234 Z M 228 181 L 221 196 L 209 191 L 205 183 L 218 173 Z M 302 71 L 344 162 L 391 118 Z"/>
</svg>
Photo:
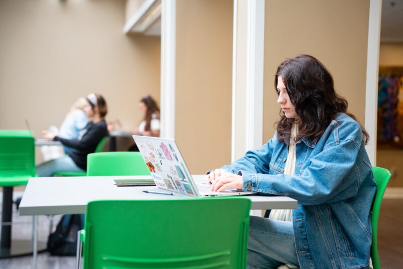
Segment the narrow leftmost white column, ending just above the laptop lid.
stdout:
<svg viewBox="0 0 403 269">
<path fill-rule="evenodd" d="M 161 7 L 161 137 L 175 138 L 176 0 Z"/>
</svg>

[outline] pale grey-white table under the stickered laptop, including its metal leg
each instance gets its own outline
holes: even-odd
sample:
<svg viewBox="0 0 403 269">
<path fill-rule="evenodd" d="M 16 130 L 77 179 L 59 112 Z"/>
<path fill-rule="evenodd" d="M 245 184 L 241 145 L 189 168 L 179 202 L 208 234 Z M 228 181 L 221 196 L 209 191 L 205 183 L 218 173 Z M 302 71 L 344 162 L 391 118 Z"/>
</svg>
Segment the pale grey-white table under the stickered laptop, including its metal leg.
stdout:
<svg viewBox="0 0 403 269">
<path fill-rule="evenodd" d="M 203 182 L 205 176 L 192 177 L 196 182 Z M 176 193 L 175 196 L 170 196 L 143 192 L 143 190 L 164 191 L 155 186 L 117 187 L 113 184 L 113 179 L 144 178 L 144 176 L 30 178 L 20 203 L 20 215 L 34 216 L 36 224 L 37 215 L 85 213 L 88 202 L 92 200 L 189 198 Z M 245 197 L 252 201 L 251 209 L 297 208 L 297 201 L 289 197 L 257 195 Z M 36 227 L 33 227 L 33 234 L 33 267 L 36 268 Z"/>
</svg>

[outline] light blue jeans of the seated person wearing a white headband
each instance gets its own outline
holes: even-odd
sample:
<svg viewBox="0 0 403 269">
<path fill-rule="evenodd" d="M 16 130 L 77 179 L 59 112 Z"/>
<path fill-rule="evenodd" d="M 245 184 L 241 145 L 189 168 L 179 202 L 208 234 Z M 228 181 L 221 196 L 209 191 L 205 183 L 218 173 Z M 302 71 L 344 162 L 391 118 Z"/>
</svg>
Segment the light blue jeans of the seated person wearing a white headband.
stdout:
<svg viewBox="0 0 403 269">
<path fill-rule="evenodd" d="M 85 172 L 67 155 L 48 160 L 36 167 L 36 174 L 39 177 L 51 177 L 57 171 Z"/>
</svg>

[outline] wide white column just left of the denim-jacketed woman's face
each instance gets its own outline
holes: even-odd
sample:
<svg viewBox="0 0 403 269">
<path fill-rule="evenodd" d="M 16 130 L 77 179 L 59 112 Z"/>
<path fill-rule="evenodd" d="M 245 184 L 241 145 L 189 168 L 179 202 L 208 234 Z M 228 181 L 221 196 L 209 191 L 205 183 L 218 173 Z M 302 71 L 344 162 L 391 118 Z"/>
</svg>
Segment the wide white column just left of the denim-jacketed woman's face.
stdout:
<svg viewBox="0 0 403 269">
<path fill-rule="evenodd" d="M 264 0 L 234 0 L 232 162 L 262 145 L 263 54 Z"/>
</svg>

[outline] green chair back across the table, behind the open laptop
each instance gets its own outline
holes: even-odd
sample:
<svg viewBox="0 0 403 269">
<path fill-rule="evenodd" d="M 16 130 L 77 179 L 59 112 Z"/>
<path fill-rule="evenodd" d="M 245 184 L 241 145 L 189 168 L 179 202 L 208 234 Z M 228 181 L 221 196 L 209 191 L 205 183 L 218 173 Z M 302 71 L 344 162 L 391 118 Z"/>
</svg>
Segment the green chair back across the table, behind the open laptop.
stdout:
<svg viewBox="0 0 403 269">
<path fill-rule="evenodd" d="M 87 176 L 150 176 L 140 152 L 100 152 L 87 157 Z"/>
</svg>

